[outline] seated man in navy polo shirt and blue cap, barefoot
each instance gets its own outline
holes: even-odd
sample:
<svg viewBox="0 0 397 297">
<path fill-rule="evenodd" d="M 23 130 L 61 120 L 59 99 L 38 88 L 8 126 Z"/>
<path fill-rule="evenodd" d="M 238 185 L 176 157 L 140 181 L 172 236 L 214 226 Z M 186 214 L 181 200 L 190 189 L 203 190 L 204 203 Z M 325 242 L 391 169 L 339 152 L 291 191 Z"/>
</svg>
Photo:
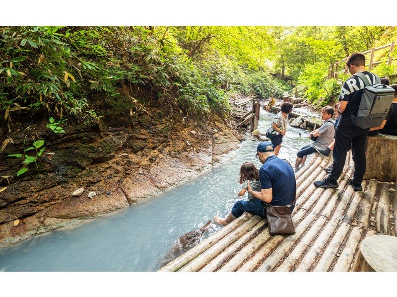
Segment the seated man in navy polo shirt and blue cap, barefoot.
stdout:
<svg viewBox="0 0 397 297">
<path fill-rule="evenodd" d="M 288 205 L 294 200 L 295 174 L 287 161 L 274 155 L 274 147 L 271 142 L 262 142 L 257 148 L 257 158 L 263 164 L 259 170 L 261 192 L 253 191 L 248 182 L 248 192 L 254 197 L 249 201 L 237 201 L 227 218 L 214 217 L 214 221 L 221 225 L 227 225 L 244 212 L 265 217 L 266 204 Z M 291 206 L 291 212 L 295 205 Z"/>
</svg>

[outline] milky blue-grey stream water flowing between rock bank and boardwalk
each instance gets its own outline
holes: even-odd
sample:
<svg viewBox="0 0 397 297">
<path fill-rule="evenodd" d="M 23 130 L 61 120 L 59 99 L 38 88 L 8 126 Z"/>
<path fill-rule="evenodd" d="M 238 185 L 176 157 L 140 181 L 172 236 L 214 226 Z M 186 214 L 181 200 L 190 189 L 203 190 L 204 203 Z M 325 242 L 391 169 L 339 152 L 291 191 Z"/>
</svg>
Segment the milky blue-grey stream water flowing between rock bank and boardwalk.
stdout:
<svg viewBox="0 0 397 297">
<path fill-rule="evenodd" d="M 262 133 L 273 116 L 261 109 Z M 296 152 L 310 143 L 307 136 L 307 131 L 288 127 L 278 156 L 294 163 Z M 0 249 L 0 271 L 156 271 L 179 236 L 214 215 L 227 216 L 240 199 L 241 164 L 261 166 L 255 158 L 258 144 L 243 141 L 220 166 L 116 214 Z M 202 239 L 220 228 L 211 224 Z"/>
</svg>

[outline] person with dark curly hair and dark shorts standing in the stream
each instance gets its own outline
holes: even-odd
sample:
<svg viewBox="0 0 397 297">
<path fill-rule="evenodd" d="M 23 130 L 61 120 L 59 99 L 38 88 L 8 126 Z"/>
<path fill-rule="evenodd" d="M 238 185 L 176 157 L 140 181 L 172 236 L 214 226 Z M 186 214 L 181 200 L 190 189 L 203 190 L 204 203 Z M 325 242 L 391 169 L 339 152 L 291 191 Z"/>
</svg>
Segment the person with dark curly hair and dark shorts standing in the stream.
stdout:
<svg viewBox="0 0 397 297">
<path fill-rule="evenodd" d="M 274 146 L 274 154 L 277 156 L 280 152 L 282 138 L 287 131 L 288 114 L 292 110 L 292 103 L 284 102 L 281 104 L 281 110 L 277 113 L 271 123 L 271 127 L 266 132 L 266 137 L 270 139 Z"/>
</svg>

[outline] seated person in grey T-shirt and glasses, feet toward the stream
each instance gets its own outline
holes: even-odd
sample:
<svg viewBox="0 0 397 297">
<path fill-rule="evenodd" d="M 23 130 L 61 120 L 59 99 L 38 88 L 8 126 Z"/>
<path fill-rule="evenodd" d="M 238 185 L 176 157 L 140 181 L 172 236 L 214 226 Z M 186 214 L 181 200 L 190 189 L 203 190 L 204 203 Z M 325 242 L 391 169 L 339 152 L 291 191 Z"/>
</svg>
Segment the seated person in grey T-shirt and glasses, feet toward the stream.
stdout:
<svg viewBox="0 0 397 297">
<path fill-rule="evenodd" d="M 319 153 L 329 156 L 331 149 L 328 147 L 335 136 L 335 124 L 331 118 L 333 116 L 332 106 L 325 106 L 321 109 L 321 118 L 323 125 L 309 134 L 309 139 L 314 140 L 310 145 L 304 146 L 298 151 L 295 161 L 295 173 L 298 172 L 299 165 L 303 167 L 305 165 L 306 157 L 316 151 Z"/>
</svg>

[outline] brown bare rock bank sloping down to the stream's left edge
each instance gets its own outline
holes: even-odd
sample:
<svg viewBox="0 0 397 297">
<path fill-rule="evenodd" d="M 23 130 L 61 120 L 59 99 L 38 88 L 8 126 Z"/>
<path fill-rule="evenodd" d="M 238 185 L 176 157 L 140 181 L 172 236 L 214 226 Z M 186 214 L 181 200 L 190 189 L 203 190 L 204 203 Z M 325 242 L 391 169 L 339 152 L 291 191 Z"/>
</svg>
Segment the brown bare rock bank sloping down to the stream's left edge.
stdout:
<svg viewBox="0 0 397 297">
<path fill-rule="evenodd" d="M 53 134 L 45 121 L 30 125 L 27 139 L 37 134 L 46 142 L 37 159 L 39 174 L 31 166 L 16 177 L 21 159 L 6 155 L 23 151 L 27 124 L 13 130 L 14 144 L 0 153 L 0 175 L 10 177 L 9 185 L 0 180 L 0 188 L 6 186 L 0 194 L 0 246 L 98 218 L 170 189 L 224 161 L 242 140 L 216 115 L 199 124 L 155 107 L 148 109 L 150 115 L 138 111 L 133 117 L 127 108 L 98 124 L 66 126 L 65 134 Z M 96 195 L 88 198 L 81 195 L 84 191 Z"/>
</svg>

